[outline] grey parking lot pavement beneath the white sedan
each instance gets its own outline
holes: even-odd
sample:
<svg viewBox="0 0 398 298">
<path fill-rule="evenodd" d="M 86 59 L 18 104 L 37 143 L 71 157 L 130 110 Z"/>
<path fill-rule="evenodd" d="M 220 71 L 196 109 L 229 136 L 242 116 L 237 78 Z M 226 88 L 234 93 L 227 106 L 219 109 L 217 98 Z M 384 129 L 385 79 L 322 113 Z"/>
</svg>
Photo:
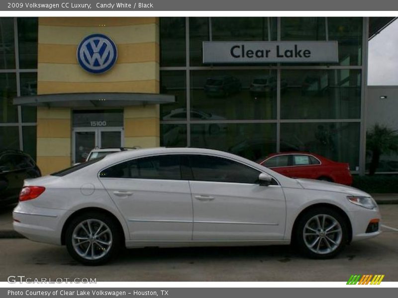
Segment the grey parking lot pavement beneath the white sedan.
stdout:
<svg viewBox="0 0 398 298">
<path fill-rule="evenodd" d="M 63 246 L 0 239 L 0 281 L 97 278 L 97 281 L 347 281 L 352 274 L 384 274 L 398 281 L 398 205 L 381 205 L 383 233 L 354 242 L 335 259 L 311 260 L 291 246 L 145 248 L 123 250 L 99 267 L 74 261 Z"/>
</svg>

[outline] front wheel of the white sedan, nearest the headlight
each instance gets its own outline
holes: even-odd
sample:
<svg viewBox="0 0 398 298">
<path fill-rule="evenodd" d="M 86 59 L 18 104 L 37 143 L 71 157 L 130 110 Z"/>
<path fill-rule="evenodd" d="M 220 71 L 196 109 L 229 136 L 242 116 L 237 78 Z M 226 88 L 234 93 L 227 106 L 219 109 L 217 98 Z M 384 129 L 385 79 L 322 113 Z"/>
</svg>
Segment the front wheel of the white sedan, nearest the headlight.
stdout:
<svg viewBox="0 0 398 298">
<path fill-rule="evenodd" d="M 298 249 L 312 259 L 335 257 L 344 248 L 347 239 L 345 219 L 339 212 L 326 207 L 304 213 L 298 219 L 293 237 Z"/>
</svg>

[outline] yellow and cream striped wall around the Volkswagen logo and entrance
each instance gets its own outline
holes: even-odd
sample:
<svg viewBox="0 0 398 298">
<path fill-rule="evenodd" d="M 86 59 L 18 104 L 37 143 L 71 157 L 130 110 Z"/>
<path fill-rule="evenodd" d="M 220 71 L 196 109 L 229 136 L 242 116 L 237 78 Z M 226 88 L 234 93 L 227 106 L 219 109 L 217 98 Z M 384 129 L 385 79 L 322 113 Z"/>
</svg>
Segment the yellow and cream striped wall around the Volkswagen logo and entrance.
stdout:
<svg viewBox="0 0 398 298">
<path fill-rule="evenodd" d="M 159 24 L 155 17 L 40 17 L 38 94 L 80 92 L 159 93 Z M 78 44 L 102 33 L 118 57 L 104 74 L 84 71 L 76 59 Z M 38 108 L 37 163 L 43 174 L 71 164 L 72 111 Z M 159 146 L 159 107 L 124 108 L 124 146 Z"/>
</svg>

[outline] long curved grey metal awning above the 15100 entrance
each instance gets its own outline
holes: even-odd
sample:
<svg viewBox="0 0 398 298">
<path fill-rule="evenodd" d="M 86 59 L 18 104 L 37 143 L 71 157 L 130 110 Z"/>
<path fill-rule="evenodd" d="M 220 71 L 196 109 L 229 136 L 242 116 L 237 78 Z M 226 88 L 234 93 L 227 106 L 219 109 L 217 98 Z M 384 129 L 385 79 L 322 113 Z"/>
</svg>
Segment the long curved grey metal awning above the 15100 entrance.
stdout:
<svg viewBox="0 0 398 298">
<path fill-rule="evenodd" d="M 175 102 L 175 96 L 153 93 L 62 93 L 19 96 L 14 105 L 35 107 L 93 108 L 126 107 L 134 105 Z"/>
</svg>

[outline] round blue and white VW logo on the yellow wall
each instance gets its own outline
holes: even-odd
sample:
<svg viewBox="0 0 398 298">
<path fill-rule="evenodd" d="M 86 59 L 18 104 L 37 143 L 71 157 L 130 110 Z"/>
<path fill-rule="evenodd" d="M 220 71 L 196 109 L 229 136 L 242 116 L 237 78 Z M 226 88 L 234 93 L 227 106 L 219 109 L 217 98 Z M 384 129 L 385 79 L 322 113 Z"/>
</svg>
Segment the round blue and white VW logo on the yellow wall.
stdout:
<svg viewBox="0 0 398 298">
<path fill-rule="evenodd" d="M 80 42 L 77 58 L 85 71 L 102 74 L 110 70 L 116 62 L 116 45 L 103 34 L 92 34 Z"/>
</svg>

